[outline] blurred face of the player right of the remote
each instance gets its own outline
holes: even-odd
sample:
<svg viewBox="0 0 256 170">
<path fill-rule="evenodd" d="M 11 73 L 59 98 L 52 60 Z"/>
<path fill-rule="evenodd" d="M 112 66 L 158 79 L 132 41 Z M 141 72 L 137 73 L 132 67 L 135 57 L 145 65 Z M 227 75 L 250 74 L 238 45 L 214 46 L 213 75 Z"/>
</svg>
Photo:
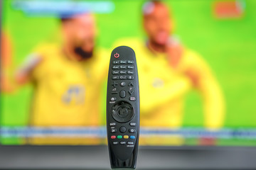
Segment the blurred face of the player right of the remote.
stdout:
<svg viewBox="0 0 256 170">
<path fill-rule="evenodd" d="M 153 11 L 144 16 L 144 29 L 151 41 L 166 45 L 171 31 L 168 8 L 162 4 L 154 5 Z"/>
</svg>

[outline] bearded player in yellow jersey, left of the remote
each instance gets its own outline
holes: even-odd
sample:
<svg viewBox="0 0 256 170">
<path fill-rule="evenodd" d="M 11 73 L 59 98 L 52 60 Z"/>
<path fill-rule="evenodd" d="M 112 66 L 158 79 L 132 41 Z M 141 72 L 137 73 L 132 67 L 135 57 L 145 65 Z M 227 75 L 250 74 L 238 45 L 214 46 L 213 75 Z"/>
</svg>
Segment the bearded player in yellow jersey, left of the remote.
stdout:
<svg viewBox="0 0 256 170">
<path fill-rule="evenodd" d="M 109 59 L 105 50 L 95 49 L 95 18 L 90 13 L 65 16 L 60 32 L 60 42 L 38 45 L 15 76 L 17 86 L 31 82 L 34 87 L 29 125 L 97 127 Z M 38 144 L 69 142 L 95 144 L 97 140 L 31 138 L 31 143 Z"/>
</svg>

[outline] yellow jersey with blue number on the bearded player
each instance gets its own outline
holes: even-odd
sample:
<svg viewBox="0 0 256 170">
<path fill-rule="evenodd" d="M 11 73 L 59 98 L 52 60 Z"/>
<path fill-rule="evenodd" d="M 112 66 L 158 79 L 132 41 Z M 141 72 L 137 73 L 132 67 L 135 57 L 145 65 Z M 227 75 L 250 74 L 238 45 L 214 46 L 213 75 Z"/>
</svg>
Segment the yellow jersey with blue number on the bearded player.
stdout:
<svg viewBox="0 0 256 170">
<path fill-rule="evenodd" d="M 95 50 L 85 61 L 68 59 L 58 44 L 36 47 L 41 62 L 31 72 L 35 86 L 30 124 L 33 126 L 100 125 L 100 96 L 104 92 L 109 55 Z"/>
</svg>

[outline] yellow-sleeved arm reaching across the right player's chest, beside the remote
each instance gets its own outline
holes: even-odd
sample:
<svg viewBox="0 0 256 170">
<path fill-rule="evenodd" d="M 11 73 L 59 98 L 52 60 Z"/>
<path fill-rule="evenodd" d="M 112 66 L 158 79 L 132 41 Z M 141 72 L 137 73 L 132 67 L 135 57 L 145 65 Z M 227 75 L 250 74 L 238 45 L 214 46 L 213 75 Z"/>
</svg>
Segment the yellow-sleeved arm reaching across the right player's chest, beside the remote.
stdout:
<svg viewBox="0 0 256 170">
<path fill-rule="evenodd" d="M 169 103 L 176 98 L 180 98 L 191 89 L 191 83 L 186 77 L 175 77 L 174 79 L 176 81 L 154 88 L 147 83 L 143 75 L 139 74 L 140 107 L 143 113 L 150 113 L 162 106 L 163 103 Z"/>
</svg>

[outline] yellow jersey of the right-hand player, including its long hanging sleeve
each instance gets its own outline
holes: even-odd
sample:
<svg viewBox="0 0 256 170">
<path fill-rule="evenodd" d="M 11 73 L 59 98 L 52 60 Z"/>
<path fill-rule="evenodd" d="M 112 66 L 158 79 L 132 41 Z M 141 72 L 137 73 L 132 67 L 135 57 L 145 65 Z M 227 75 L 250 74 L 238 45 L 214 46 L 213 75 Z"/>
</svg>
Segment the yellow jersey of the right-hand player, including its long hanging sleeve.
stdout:
<svg viewBox="0 0 256 170">
<path fill-rule="evenodd" d="M 176 69 L 165 53 L 152 53 L 146 42 L 137 38 L 118 40 L 115 46 L 134 49 L 139 72 L 141 126 L 180 128 L 183 124 L 184 96 L 193 86 L 186 71 L 198 74 L 198 91 L 203 96 L 206 128 L 220 128 L 224 119 L 224 100 L 218 82 L 203 58 L 185 49 Z"/>
</svg>

